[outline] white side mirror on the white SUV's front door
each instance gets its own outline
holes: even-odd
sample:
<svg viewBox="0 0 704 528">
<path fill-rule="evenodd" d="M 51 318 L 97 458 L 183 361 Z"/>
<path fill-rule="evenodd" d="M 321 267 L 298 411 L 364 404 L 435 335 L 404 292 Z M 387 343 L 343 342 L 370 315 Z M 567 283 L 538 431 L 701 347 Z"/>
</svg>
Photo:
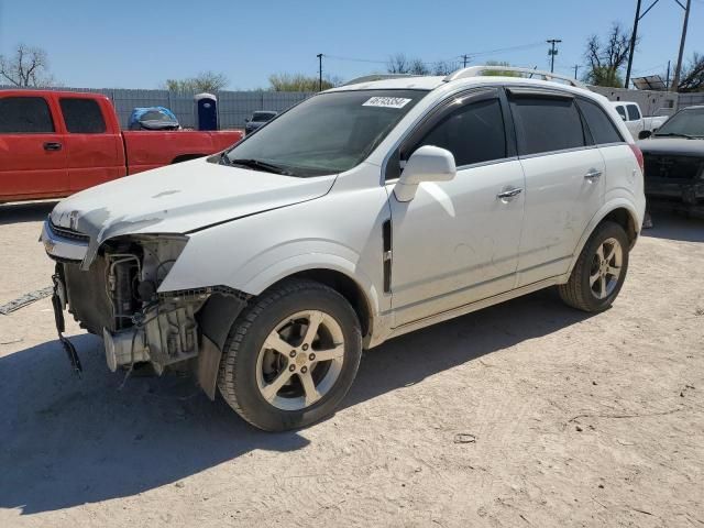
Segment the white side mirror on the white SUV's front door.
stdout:
<svg viewBox="0 0 704 528">
<path fill-rule="evenodd" d="M 414 152 L 394 187 L 398 201 L 410 201 L 422 182 L 449 182 L 458 169 L 450 151 L 439 146 L 424 145 Z"/>
</svg>

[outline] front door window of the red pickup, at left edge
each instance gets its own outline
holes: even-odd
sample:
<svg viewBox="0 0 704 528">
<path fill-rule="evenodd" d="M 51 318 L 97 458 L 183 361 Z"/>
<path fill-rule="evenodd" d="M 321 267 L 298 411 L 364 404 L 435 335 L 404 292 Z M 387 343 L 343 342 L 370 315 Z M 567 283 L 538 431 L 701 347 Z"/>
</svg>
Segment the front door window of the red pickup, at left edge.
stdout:
<svg viewBox="0 0 704 528">
<path fill-rule="evenodd" d="M 52 112 L 43 97 L 0 99 L 0 133 L 40 134 L 54 132 Z"/>
</svg>

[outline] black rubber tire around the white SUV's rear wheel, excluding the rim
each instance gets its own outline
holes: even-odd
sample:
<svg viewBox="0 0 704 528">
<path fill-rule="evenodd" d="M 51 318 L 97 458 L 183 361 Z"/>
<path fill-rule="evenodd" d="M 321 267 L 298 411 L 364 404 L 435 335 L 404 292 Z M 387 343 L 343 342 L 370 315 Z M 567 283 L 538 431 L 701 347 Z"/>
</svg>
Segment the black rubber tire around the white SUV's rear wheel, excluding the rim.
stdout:
<svg viewBox="0 0 704 528">
<path fill-rule="evenodd" d="M 598 248 L 608 239 L 616 239 L 623 249 L 620 275 L 608 296 L 600 299 L 590 285 L 590 275 Z M 628 272 L 628 235 L 618 223 L 606 221 L 597 226 L 580 253 L 566 284 L 558 287 L 562 300 L 569 306 L 587 312 L 600 312 L 608 309 L 626 279 Z"/>
</svg>

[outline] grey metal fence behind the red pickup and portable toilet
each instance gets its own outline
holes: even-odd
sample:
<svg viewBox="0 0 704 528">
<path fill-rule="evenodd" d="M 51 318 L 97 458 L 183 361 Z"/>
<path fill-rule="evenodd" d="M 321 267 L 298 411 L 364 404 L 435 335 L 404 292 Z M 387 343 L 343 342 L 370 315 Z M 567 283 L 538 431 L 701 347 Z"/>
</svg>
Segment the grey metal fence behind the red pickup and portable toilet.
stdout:
<svg viewBox="0 0 704 528">
<path fill-rule="evenodd" d="M 0 88 L 10 88 L 2 87 Z M 86 91 L 108 96 L 120 119 L 123 129 L 132 110 L 136 107 L 166 107 L 178 118 L 183 127 L 195 127 L 195 94 L 180 94 L 168 90 L 133 90 L 123 88 L 64 88 L 56 90 Z M 255 110 L 274 110 L 282 112 L 297 102 L 315 95 L 311 91 L 218 91 L 218 123 L 220 129 L 239 129 L 244 127 L 245 118 Z"/>
</svg>

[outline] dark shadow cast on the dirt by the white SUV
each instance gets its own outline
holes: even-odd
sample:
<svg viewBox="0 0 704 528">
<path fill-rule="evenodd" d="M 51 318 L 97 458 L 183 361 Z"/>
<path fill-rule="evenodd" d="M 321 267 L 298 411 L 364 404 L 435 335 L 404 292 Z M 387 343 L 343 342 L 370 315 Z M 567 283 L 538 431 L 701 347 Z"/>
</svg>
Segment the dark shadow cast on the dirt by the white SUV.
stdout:
<svg viewBox="0 0 704 528">
<path fill-rule="evenodd" d="M 400 337 L 365 354 L 343 405 L 587 317 L 541 292 Z M 123 376 L 106 369 L 100 341 L 87 334 L 73 341 L 82 380 L 68 372 L 57 341 L 0 358 L 0 508 L 26 515 L 133 496 L 254 449 L 287 452 L 309 443 L 298 432 L 254 429 L 190 378 L 132 377 L 120 391 Z"/>
</svg>

